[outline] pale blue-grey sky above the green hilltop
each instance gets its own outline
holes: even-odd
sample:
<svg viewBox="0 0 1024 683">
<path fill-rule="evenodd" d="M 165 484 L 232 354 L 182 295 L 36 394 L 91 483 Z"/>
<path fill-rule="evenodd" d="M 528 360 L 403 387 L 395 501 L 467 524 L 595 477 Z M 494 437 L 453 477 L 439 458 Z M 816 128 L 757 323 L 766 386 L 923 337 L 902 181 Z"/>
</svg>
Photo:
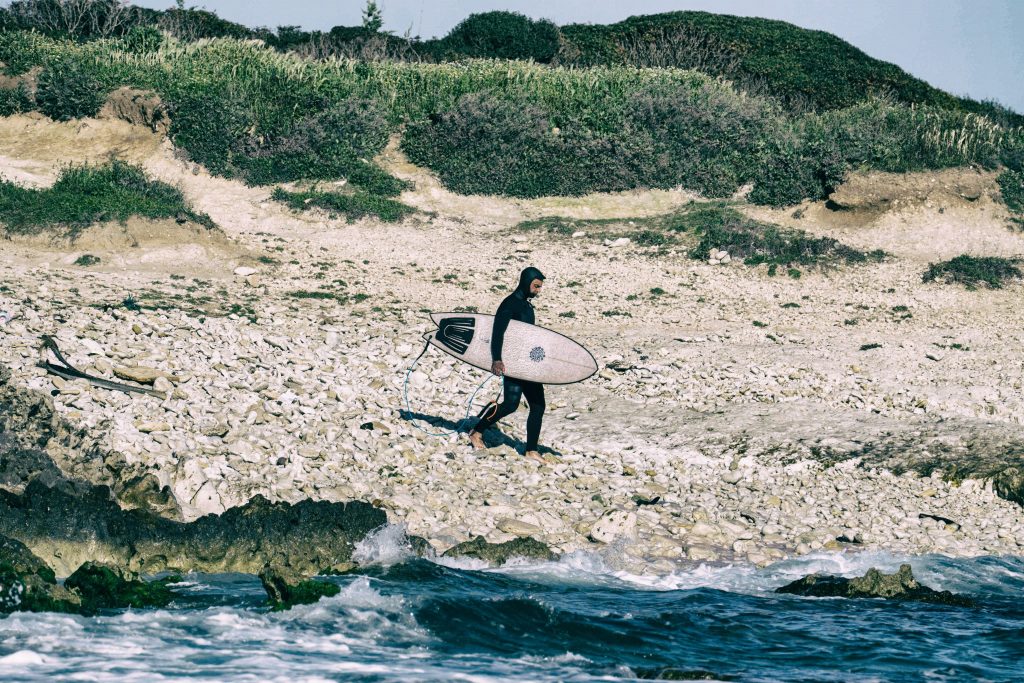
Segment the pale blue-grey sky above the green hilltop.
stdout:
<svg viewBox="0 0 1024 683">
<path fill-rule="evenodd" d="M 172 0 L 132 0 L 156 9 Z M 306 31 L 360 24 L 365 0 L 186 0 L 249 27 Z M 564 24 L 703 10 L 782 19 L 827 31 L 868 55 L 954 95 L 994 99 L 1024 114 L 1024 0 L 378 0 L 384 29 L 443 36 L 474 12 L 517 11 Z"/>
</svg>

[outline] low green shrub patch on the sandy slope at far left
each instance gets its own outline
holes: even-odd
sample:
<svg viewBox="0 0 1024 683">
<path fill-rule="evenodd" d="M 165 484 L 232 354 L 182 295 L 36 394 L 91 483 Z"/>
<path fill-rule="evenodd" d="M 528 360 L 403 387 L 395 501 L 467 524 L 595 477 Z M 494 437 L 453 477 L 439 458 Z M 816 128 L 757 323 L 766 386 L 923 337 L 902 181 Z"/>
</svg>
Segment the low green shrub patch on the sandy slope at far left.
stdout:
<svg viewBox="0 0 1024 683">
<path fill-rule="evenodd" d="M 62 226 L 78 230 L 108 220 L 185 217 L 212 227 L 205 214 L 194 213 L 181 193 L 150 180 L 138 166 L 121 161 L 104 166 L 70 166 L 46 189 L 0 182 L 0 222 L 8 232 L 31 233 Z"/>
</svg>

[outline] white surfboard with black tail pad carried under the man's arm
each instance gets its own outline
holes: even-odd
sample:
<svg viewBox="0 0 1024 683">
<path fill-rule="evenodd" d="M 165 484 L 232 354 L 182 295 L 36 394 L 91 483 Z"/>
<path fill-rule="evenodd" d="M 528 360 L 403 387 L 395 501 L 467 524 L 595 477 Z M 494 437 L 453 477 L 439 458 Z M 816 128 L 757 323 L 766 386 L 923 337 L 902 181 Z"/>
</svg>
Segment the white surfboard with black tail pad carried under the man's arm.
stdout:
<svg viewBox="0 0 1024 683">
<path fill-rule="evenodd" d="M 490 371 L 490 331 L 486 313 L 430 313 L 437 330 L 428 333 L 435 346 L 463 362 Z M 502 344 L 505 374 L 542 384 L 573 384 L 597 372 L 597 360 L 578 342 L 554 330 L 511 321 Z"/>
</svg>

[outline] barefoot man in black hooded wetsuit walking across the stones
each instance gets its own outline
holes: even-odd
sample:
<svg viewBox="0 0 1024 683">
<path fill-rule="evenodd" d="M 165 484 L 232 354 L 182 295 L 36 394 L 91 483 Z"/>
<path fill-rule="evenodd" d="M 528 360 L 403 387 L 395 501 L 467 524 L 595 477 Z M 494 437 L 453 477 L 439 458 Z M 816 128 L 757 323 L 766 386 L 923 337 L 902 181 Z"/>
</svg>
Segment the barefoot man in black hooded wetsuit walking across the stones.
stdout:
<svg viewBox="0 0 1024 683">
<path fill-rule="evenodd" d="M 502 418 L 515 413 L 519 408 L 519 399 L 526 397 L 529 404 L 529 417 L 526 418 L 526 452 L 530 460 L 544 462 L 538 452 L 537 443 L 541 436 L 541 423 L 544 420 L 544 385 L 539 382 L 515 380 L 505 376 L 505 364 L 502 362 L 502 344 L 505 341 L 505 331 L 510 321 L 520 321 L 534 325 L 534 305 L 530 299 L 541 293 L 544 285 L 544 273 L 530 266 L 519 274 L 519 286 L 515 292 L 505 297 L 495 314 L 495 326 L 490 333 L 490 372 L 503 378 L 505 383 L 505 398 L 497 408 L 487 405 L 480 414 L 476 427 L 469 432 L 469 441 L 474 449 L 482 449 L 483 432 L 489 429 Z"/>
</svg>

